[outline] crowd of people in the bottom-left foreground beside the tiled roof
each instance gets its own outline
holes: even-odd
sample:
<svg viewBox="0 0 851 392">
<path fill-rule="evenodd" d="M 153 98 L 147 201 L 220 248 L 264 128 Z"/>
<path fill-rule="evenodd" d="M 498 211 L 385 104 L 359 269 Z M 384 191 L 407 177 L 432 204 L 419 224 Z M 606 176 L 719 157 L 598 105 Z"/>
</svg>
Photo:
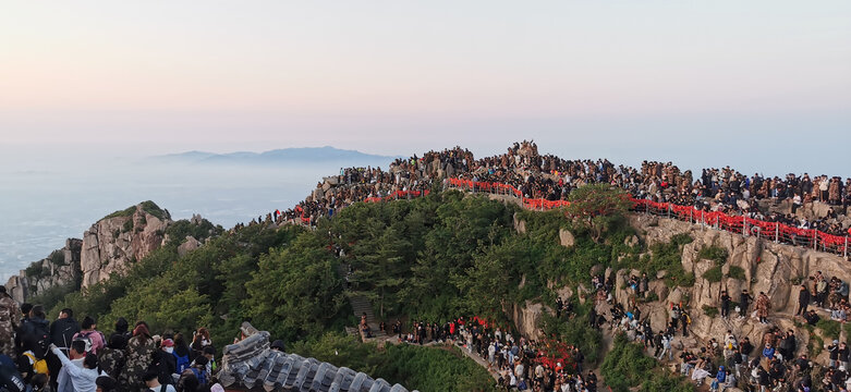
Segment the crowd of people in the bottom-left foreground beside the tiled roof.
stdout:
<svg viewBox="0 0 851 392">
<path fill-rule="evenodd" d="M 10 392 L 223 392 L 209 332 L 153 334 L 119 318 L 102 332 L 92 317 L 22 304 L 0 286 L 0 390 Z"/>
</svg>

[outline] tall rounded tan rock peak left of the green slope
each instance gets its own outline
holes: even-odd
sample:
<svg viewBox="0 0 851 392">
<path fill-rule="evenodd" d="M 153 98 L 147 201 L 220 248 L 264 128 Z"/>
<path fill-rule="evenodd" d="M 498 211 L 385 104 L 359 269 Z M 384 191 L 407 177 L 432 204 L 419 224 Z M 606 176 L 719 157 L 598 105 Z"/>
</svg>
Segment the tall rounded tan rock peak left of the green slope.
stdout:
<svg viewBox="0 0 851 392">
<path fill-rule="evenodd" d="M 83 234 L 80 267 L 83 287 L 123 273 L 130 266 L 162 246 L 172 221 L 167 211 L 145 201 L 114 212 Z"/>
</svg>

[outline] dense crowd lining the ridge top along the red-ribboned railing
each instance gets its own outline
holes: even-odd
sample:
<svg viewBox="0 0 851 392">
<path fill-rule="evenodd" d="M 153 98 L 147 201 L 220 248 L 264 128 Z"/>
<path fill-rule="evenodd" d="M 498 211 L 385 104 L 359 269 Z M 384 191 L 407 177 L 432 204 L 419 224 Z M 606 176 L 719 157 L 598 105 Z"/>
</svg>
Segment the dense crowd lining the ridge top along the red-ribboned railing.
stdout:
<svg viewBox="0 0 851 392">
<path fill-rule="evenodd" d="M 693 206 L 706 211 L 779 222 L 800 229 L 844 236 L 851 228 L 839 219 L 851 204 L 851 177 L 787 174 L 768 177 L 745 175 L 730 167 L 703 169 L 700 175 L 671 162 L 644 161 L 641 168 L 616 166 L 606 159 L 564 160 L 539 155 L 533 142 L 514 143 L 506 154 L 474 159 L 470 150 L 455 147 L 429 151 L 422 157 L 397 159 L 387 171 L 380 168 L 345 168 L 326 179 L 305 200 L 287 210 L 276 210 L 253 220 L 257 223 L 313 225 L 353 203 L 398 195 L 414 197 L 433 187 L 446 188 L 447 179 L 493 182 L 514 186 L 525 198 L 564 200 L 585 184 L 607 183 L 628 191 L 634 198 Z M 761 200 L 789 200 L 791 211 L 769 211 Z M 823 217 L 802 218 L 795 211 L 813 201 L 829 205 Z M 243 226 L 238 225 L 238 229 Z"/>
</svg>

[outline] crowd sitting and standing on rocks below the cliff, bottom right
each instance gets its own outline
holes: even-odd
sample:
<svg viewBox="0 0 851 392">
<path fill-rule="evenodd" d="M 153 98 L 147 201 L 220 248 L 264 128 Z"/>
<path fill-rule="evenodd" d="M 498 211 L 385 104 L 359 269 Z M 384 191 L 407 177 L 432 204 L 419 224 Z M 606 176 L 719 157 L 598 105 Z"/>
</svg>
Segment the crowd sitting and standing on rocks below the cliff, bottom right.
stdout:
<svg viewBox="0 0 851 392">
<path fill-rule="evenodd" d="M 851 369 L 848 367 L 851 351 L 848 344 L 834 340 L 824 346 L 828 360 L 815 363 L 814 358 L 804 353 L 806 347 L 801 344 L 795 330 L 781 330 L 771 323 L 771 301 L 766 293 L 761 292 L 754 297 L 746 289 L 741 293 L 722 290 L 718 296 L 720 317 L 737 317 L 740 322 L 752 317 L 769 324 L 761 341 L 752 343 L 747 336 L 737 336 L 732 330 L 728 330 L 722 336 L 709 339 L 701 347 L 686 348 L 682 341 L 676 344 L 677 339 L 689 336 L 691 317 L 684 306 L 670 304 L 667 326 L 654 331 L 648 317 L 642 318 L 641 302 L 630 301 L 629 309 L 615 302 L 611 277 L 594 275 L 591 284 L 597 290 L 597 302 L 610 307 L 609 328 L 612 333 L 623 333 L 628 340 L 642 344 L 647 354 L 658 360 L 678 364 L 680 372 L 697 385 L 707 383 L 714 391 L 737 387 L 761 392 L 809 392 L 815 385 L 825 391 L 851 389 Z M 632 291 L 631 298 L 645 297 L 648 293 L 646 275 L 630 277 L 627 290 Z M 811 326 L 818 324 L 823 317 L 844 323 L 849 321 L 848 295 L 847 282 L 816 271 L 801 282 L 793 316 Z M 606 321 L 599 316 L 596 322 L 603 324 Z"/>
</svg>

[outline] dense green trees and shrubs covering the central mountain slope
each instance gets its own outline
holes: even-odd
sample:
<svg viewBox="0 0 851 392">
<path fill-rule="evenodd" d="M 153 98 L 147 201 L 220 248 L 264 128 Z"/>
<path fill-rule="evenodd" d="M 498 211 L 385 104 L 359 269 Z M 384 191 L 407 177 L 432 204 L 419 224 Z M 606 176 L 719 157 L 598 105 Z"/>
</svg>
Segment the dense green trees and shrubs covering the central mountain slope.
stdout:
<svg viewBox="0 0 851 392">
<path fill-rule="evenodd" d="M 524 231 L 515 230 L 515 220 L 524 222 Z M 560 245 L 561 230 L 572 233 L 573 246 Z M 451 350 L 381 351 L 335 333 L 355 322 L 339 272 L 343 267 L 353 270 L 351 290 L 370 298 L 379 318 L 406 315 L 442 322 L 476 315 L 508 326 L 506 310 L 513 304 L 550 306 L 552 287 L 576 292 L 580 284 L 587 286 L 592 270 L 631 267 L 655 273 L 680 266 L 674 258 L 691 241 L 654 247 L 653 262 L 643 265 L 637 257 L 642 245 L 630 241 L 635 233 L 622 213 L 566 219 L 563 210 L 524 211 L 454 191 L 356 204 L 332 220 L 319 220 L 315 230 L 250 225 L 221 233 L 208 222 L 182 221 L 165 234 L 168 243 L 125 274 L 65 295 L 51 314 L 72 307 L 96 317 L 101 329 L 118 317 L 144 319 L 155 331 L 204 326 L 219 346 L 250 320 L 291 343 L 294 352 L 422 391 L 479 390 L 491 381 Z M 211 236 L 180 257 L 177 247 L 186 235 Z M 48 303 L 47 296 L 42 299 Z M 542 328 L 579 345 L 595 363 L 600 334 L 589 327 L 589 302 L 572 301 L 573 315 L 557 320 L 545 314 Z"/>
</svg>

